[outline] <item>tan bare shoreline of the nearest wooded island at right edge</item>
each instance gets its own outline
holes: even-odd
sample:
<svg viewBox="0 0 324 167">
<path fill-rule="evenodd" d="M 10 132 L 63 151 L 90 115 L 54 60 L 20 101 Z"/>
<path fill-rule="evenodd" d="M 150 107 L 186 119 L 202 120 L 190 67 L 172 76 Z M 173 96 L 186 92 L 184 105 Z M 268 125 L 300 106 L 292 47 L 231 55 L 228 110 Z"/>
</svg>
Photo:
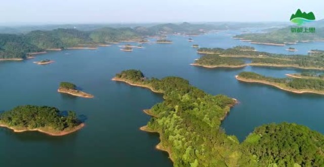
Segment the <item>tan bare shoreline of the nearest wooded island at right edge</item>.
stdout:
<svg viewBox="0 0 324 167">
<path fill-rule="evenodd" d="M 284 91 L 292 92 L 292 93 L 296 93 L 296 94 L 311 93 L 311 94 L 324 95 L 324 91 L 322 93 L 309 91 L 309 90 L 299 91 L 299 90 L 294 90 L 294 89 L 282 88 L 282 86 L 279 86 L 279 85 L 274 84 L 274 83 L 269 82 L 269 81 L 256 80 L 256 79 L 245 79 L 245 78 L 239 77 L 238 75 L 235 75 L 235 78 L 237 80 L 239 80 L 239 81 L 242 81 L 242 82 L 250 82 L 250 83 L 258 83 L 258 84 L 269 85 L 269 86 L 276 87 L 276 88 L 278 88 L 280 90 L 284 90 Z"/>
</svg>

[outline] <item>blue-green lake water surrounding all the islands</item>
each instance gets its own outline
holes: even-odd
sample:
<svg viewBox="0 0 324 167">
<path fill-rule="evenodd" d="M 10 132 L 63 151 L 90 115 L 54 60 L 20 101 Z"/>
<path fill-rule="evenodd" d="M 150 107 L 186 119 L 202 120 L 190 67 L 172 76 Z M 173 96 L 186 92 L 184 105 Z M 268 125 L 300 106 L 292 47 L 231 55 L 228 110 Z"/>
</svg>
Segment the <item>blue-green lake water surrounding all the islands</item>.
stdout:
<svg viewBox="0 0 324 167">
<path fill-rule="evenodd" d="M 251 45 L 231 36 L 238 30 L 191 37 L 169 36 L 173 44 L 143 44 L 143 49 L 121 52 L 118 45 L 98 50 L 64 50 L 38 55 L 22 62 L 0 62 L 0 111 L 18 105 L 48 105 L 73 110 L 86 119 L 76 133 L 51 137 L 38 132 L 13 133 L 0 128 L 0 166 L 172 166 L 168 154 L 155 149 L 157 134 L 139 130 L 150 119 L 142 112 L 163 101 L 162 95 L 132 87 L 111 78 L 121 70 L 140 69 L 147 77 L 180 76 L 209 94 L 236 98 L 222 123 L 228 135 L 240 141 L 255 127 L 270 122 L 296 122 L 324 133 L 324 96 L 294 94 L 258 84 L 237 81 L 241 71 L 285 77 L 294 68 L 245 67 L 206 69 L 189 65 L 200 56 L 191 47 L 231 48 L 254 46 L 258 51 L 292 54 L 286 47 Z M 322 43 L 293 45 L 297 54 L 324 50 Z M 51 59 L 48 65 L 33 61 Z M 61 81 L 70 81 L 93 99 L 59 94 Z"/>
</svg>

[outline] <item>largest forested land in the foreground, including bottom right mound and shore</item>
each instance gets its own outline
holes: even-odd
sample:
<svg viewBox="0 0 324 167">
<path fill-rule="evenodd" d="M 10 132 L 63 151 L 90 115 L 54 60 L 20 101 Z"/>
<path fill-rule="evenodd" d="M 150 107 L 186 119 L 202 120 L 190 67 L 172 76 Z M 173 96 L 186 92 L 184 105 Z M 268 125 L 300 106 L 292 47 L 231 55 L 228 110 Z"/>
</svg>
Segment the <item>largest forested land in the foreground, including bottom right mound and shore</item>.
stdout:
<svg viewBox="0 0 324 167">
<path fill-rule="evenodd" d="M 323 151 L 323 135 L 294 123 L 261 126 L 240 144 L 220 128 L 236 100 L 209 95 L 183 78 L 147 78 L 139 70 L 126 70 L 113 80 L 164 94 L 163 102 L 145 110 L 152 118 L 141 130 L 159 133 L 156 147 L 169 153 L 174 166 L 320 166 L 324 162 L 318 154 Z"/>
</svg>

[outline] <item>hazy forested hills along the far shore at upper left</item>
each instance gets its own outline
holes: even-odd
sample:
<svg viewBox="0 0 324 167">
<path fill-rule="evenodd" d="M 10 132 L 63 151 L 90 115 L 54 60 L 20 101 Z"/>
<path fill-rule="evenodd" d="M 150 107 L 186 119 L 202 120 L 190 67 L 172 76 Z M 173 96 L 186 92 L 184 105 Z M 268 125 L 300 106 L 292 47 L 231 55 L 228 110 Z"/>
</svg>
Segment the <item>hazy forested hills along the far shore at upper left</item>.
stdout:
<svg viewBox="0 0 324 167">
<path fill-rule="evenodd" d="M 54 29 L 26 34 L 0 34 L 0 59 L 25 58 L 28 53 L 46 49 L 65 49 L 84 44 L 102 44 L 139 38 L 130 28 L 101 28 L 93 31 Z"/>
</svg>

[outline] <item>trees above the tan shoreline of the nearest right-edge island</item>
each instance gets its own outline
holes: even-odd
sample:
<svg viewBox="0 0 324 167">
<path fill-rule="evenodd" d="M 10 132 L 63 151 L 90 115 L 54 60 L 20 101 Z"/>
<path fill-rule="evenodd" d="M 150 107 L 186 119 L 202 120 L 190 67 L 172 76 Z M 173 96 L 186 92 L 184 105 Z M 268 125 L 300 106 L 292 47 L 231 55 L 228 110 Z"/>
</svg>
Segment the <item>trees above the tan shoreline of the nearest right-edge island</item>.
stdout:
<svg viewBox="0 0 324 167">
<path fill-rule="evenodd" d="M 314 78 L 274 78 L 266 77 L 255 72 L 241 72 L 238 74 L 239 77 L 245 79 L 256 79 L 274 82 L 278 84 L 285 84 L 286 87 L 296 90 L 324 90 L 324 80 Z"/>
</svg>

